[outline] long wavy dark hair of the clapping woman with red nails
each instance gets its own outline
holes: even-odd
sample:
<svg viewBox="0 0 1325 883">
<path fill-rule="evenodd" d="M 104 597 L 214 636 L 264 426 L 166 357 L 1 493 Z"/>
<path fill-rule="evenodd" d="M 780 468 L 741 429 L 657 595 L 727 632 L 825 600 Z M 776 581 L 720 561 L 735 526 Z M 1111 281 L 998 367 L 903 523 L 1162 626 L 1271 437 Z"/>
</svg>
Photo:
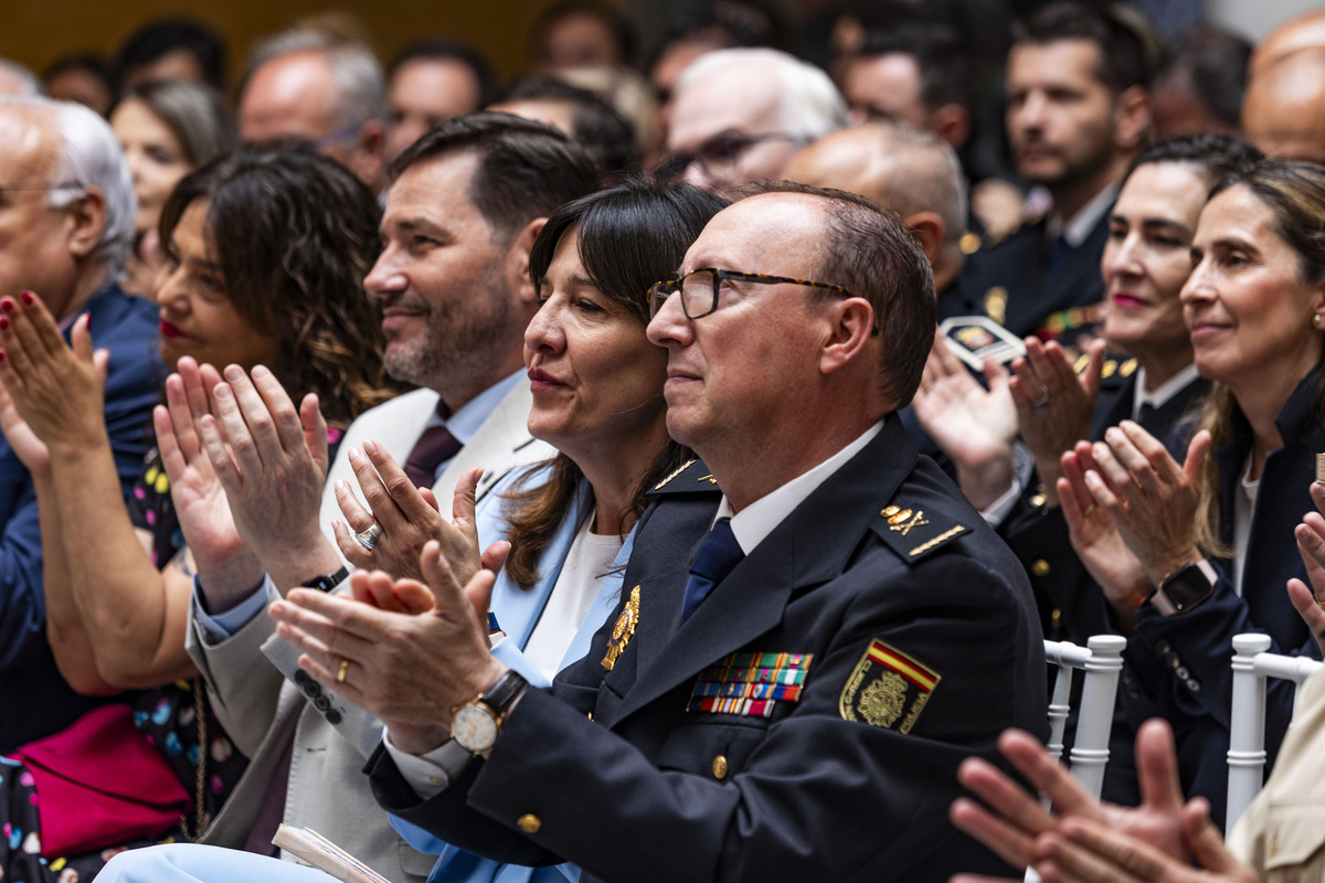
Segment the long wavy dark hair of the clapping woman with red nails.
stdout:
<svg viewBox="0 0 1325 883">
<path fill-rule="evenodd" d="M 278 339 L 270 368 L 281 385 L 294 397 L 318 393 L 339 428 L 390 398 L 379 310 L 363 293 L 380 248 L 372 192 L 310 151 L 242 148 L 175 187 L 162 242 L 199 199 L 231 304 Z"/>
</svg>

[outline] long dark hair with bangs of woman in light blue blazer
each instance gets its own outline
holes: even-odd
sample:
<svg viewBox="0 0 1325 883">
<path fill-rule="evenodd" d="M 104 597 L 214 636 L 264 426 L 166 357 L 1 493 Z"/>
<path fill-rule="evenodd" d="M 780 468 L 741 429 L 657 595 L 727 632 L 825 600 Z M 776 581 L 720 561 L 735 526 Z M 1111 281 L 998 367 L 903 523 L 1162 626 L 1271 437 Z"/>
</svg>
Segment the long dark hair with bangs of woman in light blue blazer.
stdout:
<svg viewBox="0 0 1325 883">
<path fill-rule="evenodd" d="M 628 179 L 551 213 L 530 252 L 530 278 L 535 287 L 542 286 L 558 244 L 574 229 L 580 262 L 594 287 L 647 324 L 649 286 L 676 275 L 685 250 L 725 205 L 723 197 L 680 181 Z M 689 457 L 688 449 L 670 440 L 659 451 L 636 486 L 636 518 L 644 512 L 644 491 Z M 522 481 L 506 494 L 511 544 L 506 573 L 526 589 L 538 580 L 538 559 L 584 478 L 566 454 L 549 465 L 551 477 L 545 485 L 530 487 Z"/>
</svg>

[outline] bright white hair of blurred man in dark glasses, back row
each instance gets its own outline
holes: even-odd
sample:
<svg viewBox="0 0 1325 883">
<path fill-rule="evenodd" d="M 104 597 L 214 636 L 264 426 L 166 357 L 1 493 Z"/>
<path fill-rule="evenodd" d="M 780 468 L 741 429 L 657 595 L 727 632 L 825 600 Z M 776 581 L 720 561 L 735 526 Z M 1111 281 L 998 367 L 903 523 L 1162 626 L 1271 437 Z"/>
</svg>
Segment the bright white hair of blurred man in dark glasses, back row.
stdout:
<svg viewBox="0 0 1325 883">
<path fill-rule="evenodd" d="M 694 60 L 681 71 L 676 90 L 729 68 L 762 66 L 779 81 L 778 113 L 788 135 L 807 140 L 827 135 L 847 124 L 847 102 L 823 69 L 779 49 L 718 49 Z"/>
</svg>

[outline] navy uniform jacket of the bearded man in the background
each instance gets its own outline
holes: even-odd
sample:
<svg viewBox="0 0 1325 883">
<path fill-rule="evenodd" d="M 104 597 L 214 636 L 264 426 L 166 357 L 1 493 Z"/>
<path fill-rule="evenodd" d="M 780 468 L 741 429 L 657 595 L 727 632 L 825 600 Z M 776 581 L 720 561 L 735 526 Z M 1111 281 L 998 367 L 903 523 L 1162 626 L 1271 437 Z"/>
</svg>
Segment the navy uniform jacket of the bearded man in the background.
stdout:
<svg viewBox="0 0 1325 883">
<path fill-rule="evenodd" d="M 983 312 L 1016 336 L 1037 334 L 1048 324 L 1049 330 L 1041 336 L 1063 335 L 1072 343 L 1075 330 L 1098 322 L 1098 316 L 1088 311 L 1068 311 L 1093 307 L 1104 299 L 1100 256 L 1109 238 L 1109 212 L 1101 214 L 1085 241 L 1067 249 L 1057 263 L 1052 259 L 1053 242 L 1047 241 L 1045 226 L 1047 218 L 1040 218 L 969 256 L 959 282 Z M 1065 327 L 1059 322 L 1065 322 Z"/>
</svg>

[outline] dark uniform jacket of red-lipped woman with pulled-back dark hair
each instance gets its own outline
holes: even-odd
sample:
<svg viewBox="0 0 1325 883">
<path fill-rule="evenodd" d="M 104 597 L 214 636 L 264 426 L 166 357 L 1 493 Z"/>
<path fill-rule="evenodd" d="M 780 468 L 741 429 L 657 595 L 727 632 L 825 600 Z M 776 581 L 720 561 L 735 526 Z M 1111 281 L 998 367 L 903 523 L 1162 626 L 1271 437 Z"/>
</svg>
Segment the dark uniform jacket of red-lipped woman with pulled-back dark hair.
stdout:
<svg viewBox="0 0 1325 883">
<path fill-rule="evenodd" d="M 1132 420 L 1137 391 L 1136 367 L 1136 359 L 1105 361 L 1100 396 L 1090 416 L 1090 441 L 1101 441 L 1110 426 Z M 1185 417 L 1192 416 L 1192 408 L 1207 388 L 1208 384 L 1198 377 L 1137 421 L 1142 429 L 1165 441 L 1169 453 L 1179 463 L 1187 455 L 1191 432 L 1190 428 L 1183 432 L 1174 429 Z M 1072 549 L 1063 510 L 1045 508 L 1043 490 L 1023 498 L 1023 503 L 1004 522 L 1000 532 L 1030 573 L 1044 635 L 1085 646 L 1090 635 L 1112 631 L 1108 604 Z"/>
</svg>

